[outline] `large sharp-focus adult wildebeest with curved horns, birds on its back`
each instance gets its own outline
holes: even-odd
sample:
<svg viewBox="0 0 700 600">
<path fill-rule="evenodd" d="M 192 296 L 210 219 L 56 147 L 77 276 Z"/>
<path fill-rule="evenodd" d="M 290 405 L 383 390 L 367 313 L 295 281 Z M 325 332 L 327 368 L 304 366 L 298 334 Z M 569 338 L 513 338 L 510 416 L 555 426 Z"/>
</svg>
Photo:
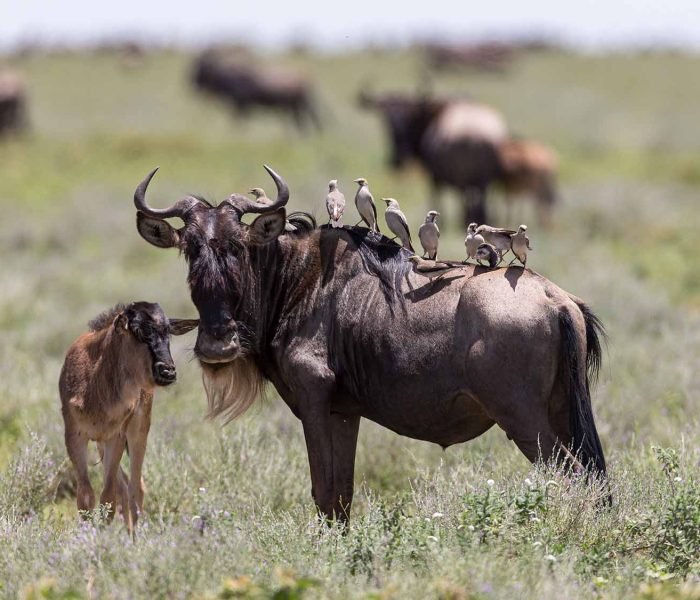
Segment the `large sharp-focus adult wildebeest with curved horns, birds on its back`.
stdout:
<svg viewBox="0 0 700 600">
<path fill-rule="evenodd" d="M 266 169 L 272 204 L 233 194 L 156 209 L 155 171 L 134 194 L 141 236 L 189 264 L 211 415 L 240 415 L 272 382 L 302 422 L 314 500 L 340 519 L 360 417 L 443 447 L 498 424 L 531 461 L 571 448 L 578 468 L 605 473 L 589 394 L 600 324 L 581 300 L 520 267 L 464 266 L 431 285 L 364 228 L 285 233 L 289 189 Z"/>
</svg>

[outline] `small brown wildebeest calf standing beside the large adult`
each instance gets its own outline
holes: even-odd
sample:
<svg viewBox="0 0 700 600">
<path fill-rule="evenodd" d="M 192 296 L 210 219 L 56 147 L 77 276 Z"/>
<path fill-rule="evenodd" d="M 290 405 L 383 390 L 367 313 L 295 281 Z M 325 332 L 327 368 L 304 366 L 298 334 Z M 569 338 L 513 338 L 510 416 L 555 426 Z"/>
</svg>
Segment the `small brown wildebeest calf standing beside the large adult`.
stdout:
<svg viewBox="0 0 700 600">
<path fill-rule="evenodd" d="M 70 347 L 59 379 L 66 449 L 78 475 L 78 509 L 95 508 L 88 479 L 87 445 L 97 442 L 104 467 L 101 504 L 110 518 L 122 506 L 129 531 L 143 508 L 141 467 L 151 426 L 153 388 L 175 381 L 170 334 L 194 329 L 197 320 L 171 319 L 158 304 L 117 304 L 90 321 Z M 127 448 L 131 477 L 120 461 Z M 117 498 L 118 497 L 118 498 Z"/>
</svg>

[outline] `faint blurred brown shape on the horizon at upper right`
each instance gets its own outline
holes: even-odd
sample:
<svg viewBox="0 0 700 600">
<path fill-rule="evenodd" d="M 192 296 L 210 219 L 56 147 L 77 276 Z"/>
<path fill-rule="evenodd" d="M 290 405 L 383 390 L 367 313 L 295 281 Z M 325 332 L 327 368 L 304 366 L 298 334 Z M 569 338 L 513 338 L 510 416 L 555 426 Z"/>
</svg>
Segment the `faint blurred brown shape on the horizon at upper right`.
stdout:
<svg viewBox="0 0 700 600">
<path fill-rule="evenodd" d="M 425 46 L 428 65 L 435 70 L 476 69 L 503 72 L 515 58 L 515 49 L 505 42 L 478 44 L 428 44 Z"/>
</svg>

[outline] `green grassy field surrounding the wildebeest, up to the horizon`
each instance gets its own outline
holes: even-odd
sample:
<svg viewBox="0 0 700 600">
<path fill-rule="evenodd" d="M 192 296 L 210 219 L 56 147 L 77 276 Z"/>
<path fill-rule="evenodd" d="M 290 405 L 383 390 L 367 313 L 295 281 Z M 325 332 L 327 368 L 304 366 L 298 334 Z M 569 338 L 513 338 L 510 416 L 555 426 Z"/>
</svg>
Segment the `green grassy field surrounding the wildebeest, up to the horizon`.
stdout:
<svg viewBox="0 0 700 600">
<path fill-rule="evenodd" d="M 352 523 L 327 527 L 298 421 L 272 388 L 234 423 L 204 420 L 189 334 L 173 343 L 178 384 L 156 397 L 136 543 L 99 514 L 78 520 L 57 394 L 68 345 L 117 301 L 196 316 L 182 257 L 134 226 L 133 190 L 151 168 L 158 206 L 272 191 L 262 163 L 288 180 L 290 207 L 320 218 L 331 178 L 352 197 L 366 177 L 414 230 L 430 204 L 418 169 L 385 168 L 379 121 L 356 103 L 366 83 L 415 89 L 418 54 L 262 57 L 316 81 L 326 127 L 307 136 L 271 116 L 232 119 L 190 89 L 191 60 L 0 60 L 25 75 L 32 122 L 0 142 L 0 596 L 700 598 L 700 58 L 681 54 L 538 53 L 505 76 L 434 81 L 559 153 L 551 229 L 526 202 L 508 225 L 530 225 L 528 266 L 607 327 L 593 404 L 610 510 L 497 428 L 442 451 L 363 422 Z M 443 207 L 441 255 L 461 259 L 458 205 Z M 497 194 L 491 207 L 505 225 Z"/>
</svg>

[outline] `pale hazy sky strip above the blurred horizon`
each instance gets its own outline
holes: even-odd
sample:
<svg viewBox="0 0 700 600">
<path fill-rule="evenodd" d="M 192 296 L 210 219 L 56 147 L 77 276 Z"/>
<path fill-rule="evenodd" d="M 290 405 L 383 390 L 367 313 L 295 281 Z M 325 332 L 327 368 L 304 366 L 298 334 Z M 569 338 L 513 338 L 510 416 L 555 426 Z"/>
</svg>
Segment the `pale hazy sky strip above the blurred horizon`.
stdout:
<svg viewBox="0 0 700 600">
<path fill-rule="evenodd" d="M 162 0 L 123 0 L 99 5 L 86 0 L 44 3 L 28 0 L 5 9 L 0 47 L 23 43 L 91 44 L 103 40 L 206 45 L 230 40 L 274 48 L 303 42 L 321 48 L 416 39 L 550 37 L 581 47 L 666 44 L 700 47 L 700 3 L 675 0 L 514 3 L 494 0 L 478 7 L 436 0 L 400 11 L 368 0 L 332 6 L 308 0 L 294 5 L 201 0 L 173 6 Z M 264 12 L 263 12 L 264 9 Z"/>
</svg>

